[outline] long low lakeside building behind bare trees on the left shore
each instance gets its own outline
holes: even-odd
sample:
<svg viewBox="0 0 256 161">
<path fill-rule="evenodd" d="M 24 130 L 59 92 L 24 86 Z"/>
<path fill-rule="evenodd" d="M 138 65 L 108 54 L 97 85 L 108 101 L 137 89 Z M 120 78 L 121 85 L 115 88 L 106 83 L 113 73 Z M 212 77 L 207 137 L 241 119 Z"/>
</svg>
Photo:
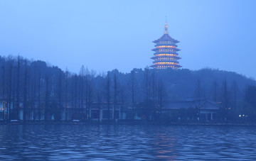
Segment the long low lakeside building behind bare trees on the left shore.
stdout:
<svg viewBox="0 0 256 161">
<path fill-rule="evenodd" d="M 54 101 L 49 101 L 48 107 L 40 106 L 44 104 L 43 101 L 36 103 L 35 106 L 28 106 L 24 109 L 24 102 L 18 104 L 15 109 L 14 102 L 8 104 L 6 101 L 0 99 L 0 121 L 19 120 L 23 121 L 50 121 L 58 118 L 60 121 L 71 120 L 120 120 L 126 119 L 126 113 L 123 111 L 124 104 L 110 102 L 91 102 L 90 104 L 83 104 L 82 106 L 73 106 L 73 102 L 68 102 L 67 106 L 55 106 Z M 64 104 L 64 102 L 62 102 Z M 24 112 L 26 111 L 26 112 Z M 16 114 L 17 113 L 17 114 Z M 26 114 L 25 114 L 26 113 Z"/>
</svg>

